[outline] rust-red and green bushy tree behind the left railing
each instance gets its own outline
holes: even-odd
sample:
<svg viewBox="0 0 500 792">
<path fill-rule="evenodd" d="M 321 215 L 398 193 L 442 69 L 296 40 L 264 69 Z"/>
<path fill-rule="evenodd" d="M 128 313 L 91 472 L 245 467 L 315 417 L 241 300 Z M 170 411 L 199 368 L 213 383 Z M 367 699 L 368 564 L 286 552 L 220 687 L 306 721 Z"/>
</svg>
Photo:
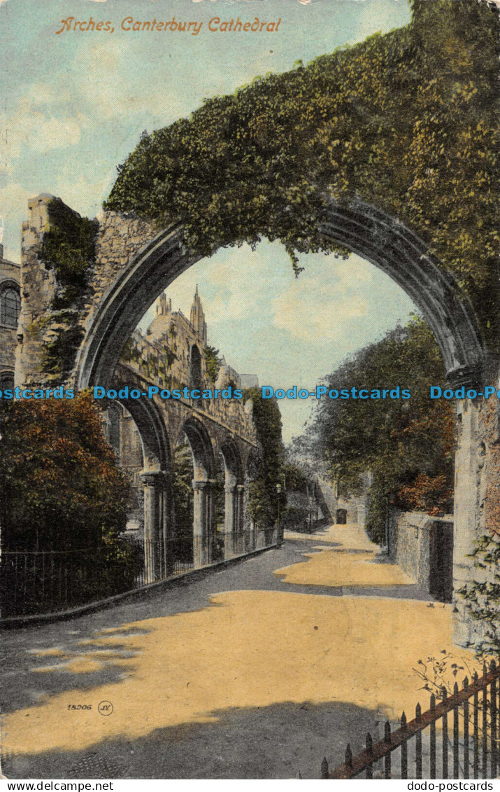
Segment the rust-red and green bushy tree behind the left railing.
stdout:
<svg viewBox="0 0 500 792">
<path fill-rule="evenodd" d="M 2 400 L 2 547 L 113 553 L 130 487 L 88 392 L 68 401 Z"/>
</svg>

